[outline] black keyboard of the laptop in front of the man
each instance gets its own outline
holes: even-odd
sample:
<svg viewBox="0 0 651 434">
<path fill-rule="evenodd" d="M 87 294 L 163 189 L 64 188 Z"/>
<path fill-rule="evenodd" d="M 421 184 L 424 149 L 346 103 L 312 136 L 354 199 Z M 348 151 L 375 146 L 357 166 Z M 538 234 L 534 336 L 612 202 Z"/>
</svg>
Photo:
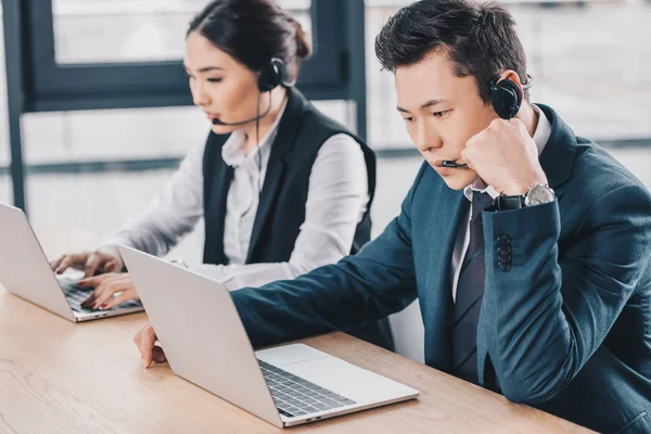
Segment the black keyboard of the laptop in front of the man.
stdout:
<svg viewBox="0 0 651 434">
<path fill-rule="evenodd" d="M 286 417 L 306 416 L 357 404 L 307 380 L 258 360 L 278 411 Z"/>
</svg>

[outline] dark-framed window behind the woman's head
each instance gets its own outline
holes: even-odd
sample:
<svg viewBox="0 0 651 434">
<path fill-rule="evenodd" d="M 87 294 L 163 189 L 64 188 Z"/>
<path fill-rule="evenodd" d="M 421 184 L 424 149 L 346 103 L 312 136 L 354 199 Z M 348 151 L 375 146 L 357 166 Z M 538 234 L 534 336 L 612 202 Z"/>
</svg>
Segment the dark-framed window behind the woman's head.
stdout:
<svg viewBox="0 0 651 434">
<path fill-rule="evenodd" d="M 27 111 L 191 104 L 180 56 L 199 0 L 28 0 Z M 299 85 L 344 86 L 339 1 L 284 0 L 314 35 Z M 332 89 L 330 89 L 332 90 Z M 331 92 L 332 93 L 332 92 Z M 321 92 L 324 95 L 326 92 Z M 333 94 L 332 98 L 343 98 Z"/>
</svg>

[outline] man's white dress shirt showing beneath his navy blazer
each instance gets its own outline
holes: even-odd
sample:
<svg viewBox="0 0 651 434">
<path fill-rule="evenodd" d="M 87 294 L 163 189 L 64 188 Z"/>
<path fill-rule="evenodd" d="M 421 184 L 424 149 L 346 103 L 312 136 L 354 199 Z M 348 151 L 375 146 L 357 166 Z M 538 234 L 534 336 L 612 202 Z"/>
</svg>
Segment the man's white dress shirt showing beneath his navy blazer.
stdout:
<svg viewBox="0 0 651 434">
<path fill-rule="evenodd" d="M 538 148 L 538 156 L 542 153 L 547 141 L 549 140 L 549 136 L 551 135 L 551 124 L 545 116 L 545 113 L 536 105 L 533 105 L 534 110 L 538 114 L 538 124 L 536 125 L 536 131 L 534 132 L 534 142 Z M 472 203 L 472 192 L 480 191 L 482 193 L 490 194 L 490 197 L 495 199 L 499 195 L 499 193 L 493 188 L 493 186 L 486 186 L 481 179 L 477 179 L 474 183 L 468 186 L 463 189 L 463 194 L 468 200 Z M 472 207 L 472 205 L 471 205 Z M 472 216 L 472 209 L 469 209 L 465 214 L 465 225 L 460 226 L 459 231 L 457 232 L 457 240 L 455 243 L 455 250 L 452 251 L 452 260 L 451 260 L 451 269 L 452 269 L 452 299 L 457 299 L 457 285 L 459 283 L 459 275 L 461 272 L 461 261 L 465 256 L 465 252 L 468 251 L 468 246 L 470 244 L 470 216 Z"/>
</svg>

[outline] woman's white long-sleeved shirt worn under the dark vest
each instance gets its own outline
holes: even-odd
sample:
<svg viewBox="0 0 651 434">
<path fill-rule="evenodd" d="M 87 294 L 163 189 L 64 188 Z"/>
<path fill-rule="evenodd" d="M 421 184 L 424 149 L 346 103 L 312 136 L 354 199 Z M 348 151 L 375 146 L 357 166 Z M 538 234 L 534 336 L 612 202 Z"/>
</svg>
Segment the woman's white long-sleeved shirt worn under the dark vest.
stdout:
<svg viewBox="0 0 651 434">
<path fill-rule="evenodd" d="M 286 106 L 286 103 L 285 103 Z M 229 290 L 260 286 L 294 279 L 348 255 L 357 225 L 369 200 L 367 167 L 359 144 L 344 133 L 328 139 L 319 150 L 309 177 L 305 221 L 289 261 L 245 265 L 258 206 L 258 191 L 283 106 L 259 146 L 244 153 L 244 132 L 235 131 L 222 148 L 224 161 L 233 167 L 227 196 L 224 246 L 229 265 L 196 265 L 191 269 L 221 281 Z M 298 144 L 299 145 L 299 144 Z M 105 245 L 125 244 L 152 255 L 165 255 L 203 217 L 204 145 L 180 164 L 163 192 L 143 215 L 123 227 Z"/>
</svg>

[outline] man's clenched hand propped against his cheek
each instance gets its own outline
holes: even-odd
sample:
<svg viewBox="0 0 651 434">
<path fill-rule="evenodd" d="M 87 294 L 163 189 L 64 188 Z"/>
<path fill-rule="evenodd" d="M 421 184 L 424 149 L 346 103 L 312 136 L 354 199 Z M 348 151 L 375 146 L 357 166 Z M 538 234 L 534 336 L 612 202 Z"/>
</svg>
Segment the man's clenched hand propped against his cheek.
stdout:
<svg viewBox="0 0 651 434">
<path fill-rule="evenodd" d="M 536 182 L 547 183 L 536 143 L 518 118 L 493 120 L 465 143 L 461 156 L 487 186 L 507 195 L 524 194 Z"/>
</svg>

